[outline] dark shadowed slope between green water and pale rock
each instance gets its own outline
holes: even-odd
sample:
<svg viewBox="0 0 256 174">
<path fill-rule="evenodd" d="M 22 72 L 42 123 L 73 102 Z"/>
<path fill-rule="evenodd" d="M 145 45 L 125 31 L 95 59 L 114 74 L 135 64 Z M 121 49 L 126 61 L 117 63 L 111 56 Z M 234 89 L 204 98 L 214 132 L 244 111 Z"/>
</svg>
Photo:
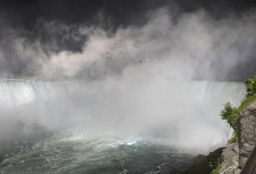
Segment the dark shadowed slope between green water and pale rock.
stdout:
<svg viewBox="0 0 256 174">
<path fill-rule="evenodd" d="M 193 164 L 188 170 L 184 171 L 182 174 L 215 174 L 212 172 L 217 172 L 220 170 L 220 156 L 223 148 L 218 148 L 214 152 L 210 152 L 209 155 L 200 159 L 200 161 Z M 215 171 L 214 171 L 215 170 Z"/>
</svg>

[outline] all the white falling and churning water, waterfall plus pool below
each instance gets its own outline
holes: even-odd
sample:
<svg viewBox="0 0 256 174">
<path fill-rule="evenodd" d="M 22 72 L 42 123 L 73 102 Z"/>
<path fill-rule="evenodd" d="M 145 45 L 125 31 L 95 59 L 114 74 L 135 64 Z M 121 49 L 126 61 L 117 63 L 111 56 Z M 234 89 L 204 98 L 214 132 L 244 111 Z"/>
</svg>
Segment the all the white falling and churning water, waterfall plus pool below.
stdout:
<svg viewBox="0 0 256 174">
<path fill-rule="evenodd" d="M 169 173 L 227 142 L 243 83 L 0 82 L 1 173 Z"/>
</svg>

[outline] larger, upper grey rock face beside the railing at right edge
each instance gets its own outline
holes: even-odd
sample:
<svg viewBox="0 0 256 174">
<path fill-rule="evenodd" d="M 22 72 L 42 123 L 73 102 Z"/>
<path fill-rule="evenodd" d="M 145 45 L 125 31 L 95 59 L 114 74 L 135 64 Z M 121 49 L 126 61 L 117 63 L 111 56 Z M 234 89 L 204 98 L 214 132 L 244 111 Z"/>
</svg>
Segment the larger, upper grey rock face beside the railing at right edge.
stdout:
<svg viewBox="0 0 256 174">
<path fill-rule="evenodd" d="M 256 145 L 256 102 L 241 112 L 237 120 L 239 167 L 242 168 L 247 157 Z"/>
</svg>

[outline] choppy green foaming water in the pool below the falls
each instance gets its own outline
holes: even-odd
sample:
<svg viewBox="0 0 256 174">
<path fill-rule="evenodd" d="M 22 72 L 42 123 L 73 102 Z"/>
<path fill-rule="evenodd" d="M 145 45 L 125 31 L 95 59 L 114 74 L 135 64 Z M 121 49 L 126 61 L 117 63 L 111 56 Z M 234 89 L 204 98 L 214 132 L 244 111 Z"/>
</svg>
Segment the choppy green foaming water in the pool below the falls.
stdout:
<svg viewBox="0 0 256 174">
<path fill-rule="evenodd" d="M 186 168 L 191 155 L 154 139 L 113 132 L 69 130 L 8 154 L 1 174 L 170 173 Z"/>
</svg>

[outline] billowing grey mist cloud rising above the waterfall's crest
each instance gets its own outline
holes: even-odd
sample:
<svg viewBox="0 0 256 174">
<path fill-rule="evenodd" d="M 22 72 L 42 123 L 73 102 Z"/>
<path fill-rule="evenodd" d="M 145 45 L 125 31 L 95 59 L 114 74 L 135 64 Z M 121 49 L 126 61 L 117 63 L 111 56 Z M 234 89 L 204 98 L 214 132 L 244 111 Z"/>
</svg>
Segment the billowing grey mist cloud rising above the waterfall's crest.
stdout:
<svg viewBox="0 0 256 174">
<path fill-rule="evenodd" d="M 243 69 L 235 72 L 238 76 L 252 74 L 255 11 L 244 13 L 241 19 L 227 17 L 218 21 L 204 10 L 183 13 L 177 18 L 168 8 L 159 8 L 147 15 L 149 20 L 145 25 L 120 26 L 115 32 L 98 26 L 68 26 L 44 20 L 38 20 L 36 29 L 40 36 L 36 38 L 29 36 L 28 31 L 24 34 L 22 29 L 8 28 L 4 39 L 8 47 L 4 49 L 4 43 L 1 44 L 1 65 L 7 65 L 7 68 L 2 67 L 2 72 L 48 78 L 60 74 L 69 77 L 90 74 L 90 78 L 97 78 L 106 76 L 106 69 L 111 75 L 125 74 L 134 66 L 109 65 L 142 58 L 143 61 L 160 61 L 143 63 L 140 74 L 161 72 L 163 75 L 186 74 L 188 78 L 204 79 L 205 76 L 206 79 L 223 77 L 227 80 L 232 78 L 230 72 L 235 72 L 237 65 L 243 65 Z M 44 38 L 46 34 L 50 37 Z M 111 59 L 106 59 L 106 52 Z M 107 68 L 93 68 L 106 64 Z"/>
</svg>

